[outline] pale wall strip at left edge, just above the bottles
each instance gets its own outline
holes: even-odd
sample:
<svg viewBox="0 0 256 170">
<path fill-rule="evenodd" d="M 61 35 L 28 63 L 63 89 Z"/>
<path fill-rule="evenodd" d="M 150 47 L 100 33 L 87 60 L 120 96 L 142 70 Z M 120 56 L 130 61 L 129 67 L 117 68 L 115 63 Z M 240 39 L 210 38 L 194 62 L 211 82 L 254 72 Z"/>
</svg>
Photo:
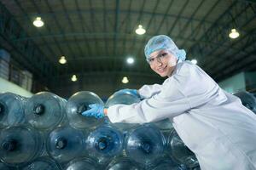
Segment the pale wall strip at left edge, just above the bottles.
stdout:
<svg viewBox="0 0 256 170">
<path fill-rule="evenodd" d="M 24 88 L 20 88 L 20 86 L 16 85 L 13 82 L 9 82 L 0 77 L 0 93 L 2 92 L 11 92 L 14 94 L 19 94 L 24 97 L 31 97 L 32 93 L 27 91 Z"/>
</svg>

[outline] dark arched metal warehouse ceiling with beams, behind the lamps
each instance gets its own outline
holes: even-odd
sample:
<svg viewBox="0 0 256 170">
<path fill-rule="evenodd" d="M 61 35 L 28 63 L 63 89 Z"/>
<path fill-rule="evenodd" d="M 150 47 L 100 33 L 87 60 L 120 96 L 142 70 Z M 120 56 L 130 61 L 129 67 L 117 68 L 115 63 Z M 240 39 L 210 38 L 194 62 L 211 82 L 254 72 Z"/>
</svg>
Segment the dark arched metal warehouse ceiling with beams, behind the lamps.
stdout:
<svg viewBox="0 0 256 170">
<path fill-rule="evenodd" d="M 37 17 L 44 26 L 32 25 Z M 144 35 L 135 33 L 138 25 Z M 230 39 L 232 28 L 240 37 Z M 143 54 L 145 43 L 158 34 L 172 37 L 187 59 L 197 59 L 216 81 L 255 71 L 255 28 L 256 5 L 245 0 L 0 1 L 1 48 L 55 92 L 89 84 L 116 90 L 123 88 L 124 76 L 128 88 L 162 82 Z M 61 56 L 67 64 L 59 63 Z M 133 65 L 126 64 L 129 56 Z M 73 74 L 78 82 L 71 82 Z"/>
</svg>

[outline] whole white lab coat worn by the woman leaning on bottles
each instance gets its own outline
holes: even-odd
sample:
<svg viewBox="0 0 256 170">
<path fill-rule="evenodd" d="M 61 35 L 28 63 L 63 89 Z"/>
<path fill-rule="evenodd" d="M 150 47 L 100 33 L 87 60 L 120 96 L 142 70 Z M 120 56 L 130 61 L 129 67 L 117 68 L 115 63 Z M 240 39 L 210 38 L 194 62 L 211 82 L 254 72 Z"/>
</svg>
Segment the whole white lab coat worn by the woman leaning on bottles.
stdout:
<svg viewBox="0 0 256 170">
<path fill-rule="evenodd" d="M 146 99 L 108 108 L 111 122 L 144 123 L 168 117 L 201 169 L 256 169 L 256 115 L 199 66 L 178 62 L 162 85 L 145 85 L 138 93 Z"/>
</svg>

